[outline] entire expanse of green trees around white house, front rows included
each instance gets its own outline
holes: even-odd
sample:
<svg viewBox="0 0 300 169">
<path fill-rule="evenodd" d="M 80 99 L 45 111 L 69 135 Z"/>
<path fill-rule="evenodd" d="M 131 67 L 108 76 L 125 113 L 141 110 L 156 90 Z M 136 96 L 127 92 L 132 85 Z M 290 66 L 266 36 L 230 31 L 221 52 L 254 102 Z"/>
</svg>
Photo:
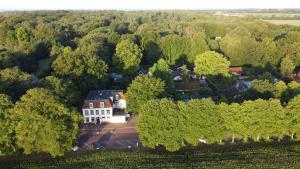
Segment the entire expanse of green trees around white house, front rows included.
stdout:
<svg viewBox="0 0 300 169">
<path fill-rule="evenodd" d="M 3 12 L 0 155 L 63 155 L 76 140 L 81 102 L 93 89 L 125 90 L 128 110 L 141 116 L 141 140 L 153 148 L 174 151 L 199 138 L 209 143 L 226 137 L 297 138 L 299 65 L 300 27 L 253 17 L 196 11 Z M 178 66 L 205 75 L 209 85 L 199 91 L 211 99 L 176 98 L 170 70 Z M 249 90 L 232 95 L 237 82 L 228 73 L 232 66 L 242 66 L 253 80 Z M 140 75 L 143 68 L 150 75 Z M 112 73 L 123 80 L 113 81 Z"/>
</svg>

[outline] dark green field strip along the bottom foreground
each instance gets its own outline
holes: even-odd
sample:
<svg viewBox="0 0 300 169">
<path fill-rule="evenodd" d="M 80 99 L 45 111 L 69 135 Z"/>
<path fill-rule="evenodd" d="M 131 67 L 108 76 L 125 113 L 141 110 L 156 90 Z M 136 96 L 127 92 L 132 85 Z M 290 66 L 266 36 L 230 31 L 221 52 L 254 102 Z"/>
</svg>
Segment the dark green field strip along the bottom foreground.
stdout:
<svg viewBox="0 0 300 169">
<path fill-rule="evenodd" d="M 35 159 L 35 160 L 34 160 Z M 0 158 L 0 168 L 300 168 L 300 143 L 204 146 L 198 150 L 166 152 L 89 152 L 63 158 Z"/>
</svg>

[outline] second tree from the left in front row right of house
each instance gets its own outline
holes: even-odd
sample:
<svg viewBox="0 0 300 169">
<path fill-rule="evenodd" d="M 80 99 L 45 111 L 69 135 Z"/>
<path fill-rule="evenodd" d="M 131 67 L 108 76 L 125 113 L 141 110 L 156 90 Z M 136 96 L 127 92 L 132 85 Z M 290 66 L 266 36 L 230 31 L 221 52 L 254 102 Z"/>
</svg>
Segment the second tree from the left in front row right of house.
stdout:
<svg viewBox="0 0 300 169">
<path fill-rule="evenodd" d="M 211 99 L 191 100 L 186 106 L 179 105 L 179 112 L 184 116 L 182 135 L 188 143 L 198 145 L 199 139 L 215 143 L 224 138 L 224 122 Z"/>
</svg>

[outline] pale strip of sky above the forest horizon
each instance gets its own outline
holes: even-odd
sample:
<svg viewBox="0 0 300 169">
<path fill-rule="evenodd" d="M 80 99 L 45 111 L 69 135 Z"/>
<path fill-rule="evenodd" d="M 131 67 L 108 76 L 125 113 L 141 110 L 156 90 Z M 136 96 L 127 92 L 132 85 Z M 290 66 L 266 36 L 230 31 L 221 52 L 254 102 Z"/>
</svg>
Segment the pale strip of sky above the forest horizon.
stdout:
<svg viewBox="0 0 300 169">
<path fill-rule="evenodd" d="M 1 10 L 300 8 L 299 0 L 0 0 Z"/>
</svg>

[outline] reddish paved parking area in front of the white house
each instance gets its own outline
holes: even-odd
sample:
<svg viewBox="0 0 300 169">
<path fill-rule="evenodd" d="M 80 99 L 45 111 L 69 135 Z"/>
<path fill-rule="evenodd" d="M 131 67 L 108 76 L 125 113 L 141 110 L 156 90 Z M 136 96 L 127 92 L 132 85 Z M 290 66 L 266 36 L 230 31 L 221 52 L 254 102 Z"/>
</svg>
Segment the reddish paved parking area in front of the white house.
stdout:
<svg viewBox="0 0 300 169">
<path fill-rule="evenodd" d="M 138 149 L 141 144 L 136 132 L 137 117 L 125 124 L 86 124 L 79 133 L 79 148 L 82 150 Z"/>
</svg>

